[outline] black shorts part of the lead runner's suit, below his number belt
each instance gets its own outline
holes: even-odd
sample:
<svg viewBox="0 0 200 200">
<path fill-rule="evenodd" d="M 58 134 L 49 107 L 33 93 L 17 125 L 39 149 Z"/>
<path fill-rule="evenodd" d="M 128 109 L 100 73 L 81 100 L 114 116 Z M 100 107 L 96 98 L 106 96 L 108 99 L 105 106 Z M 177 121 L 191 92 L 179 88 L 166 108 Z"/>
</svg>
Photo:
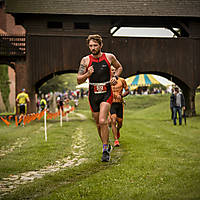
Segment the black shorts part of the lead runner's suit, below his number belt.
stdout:
<svg viewBox="0 0 200 200">
<path fill-rule="evenodd" d="M 113 100 L 113 93 L 112 89 L 108 88 L 106 93 L 102 94 L 94 94 L 94 92 L 89 92 L 89 103 L 90 103 L 90 109 L 92 112 L 99 112 L 100 111 L 100 104 L 102 102 L 107 102 L 109 104 L 112 104 Z"/>
</svg>

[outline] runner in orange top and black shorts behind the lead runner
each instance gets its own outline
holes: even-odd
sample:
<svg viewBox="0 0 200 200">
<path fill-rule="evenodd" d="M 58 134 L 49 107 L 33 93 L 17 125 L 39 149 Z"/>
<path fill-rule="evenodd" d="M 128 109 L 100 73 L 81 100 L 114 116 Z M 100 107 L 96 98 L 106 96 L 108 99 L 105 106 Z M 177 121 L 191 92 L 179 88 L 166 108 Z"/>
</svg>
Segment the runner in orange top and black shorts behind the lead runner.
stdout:
<svg viewBox="0 0 200 200">
<path fill-rule="evenodd" d="M 113 66 L 111 66 L 112 77 L 115 76 L 115 71 L 116 69 Z M 124 111 L 123 97 L 129 94 L 128 85 L 125 79 L 118 77 L 117 84 L 112 85 L 112 91 L 113 91 L 113 102 L 110 109 L 110 121 L 111 121 L 113 136 L 115 139 L 114 146 L 118 147 L 119 146 L 118 139 L 120 137 L 119 130 L 122 127 L 122 122 L 123 122 L 123 111 Z"/>
</svg>

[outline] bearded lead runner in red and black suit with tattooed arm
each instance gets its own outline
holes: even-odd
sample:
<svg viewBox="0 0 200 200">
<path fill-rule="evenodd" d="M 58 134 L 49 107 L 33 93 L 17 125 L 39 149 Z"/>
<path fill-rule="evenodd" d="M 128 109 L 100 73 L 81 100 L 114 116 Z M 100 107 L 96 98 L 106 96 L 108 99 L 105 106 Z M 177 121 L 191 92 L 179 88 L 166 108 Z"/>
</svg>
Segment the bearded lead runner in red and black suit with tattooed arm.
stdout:
<svg viewBox="0 0 200 200">
<path fill-rule="evenodd" d="M 103 41 L 100 35 L 89 35 L 87 44 L 91 54 L 81 59 L 77 83 L 81 84 L 89 79 L 89 104 L 103 143 L 101 160 L 108 162 L 110 154 L 107 118 L 113 100 L 111 85 L 117 83 L 123 68 L 113 54 L 102 52 Z M 114 77 L 111 77 L 111 65 L 116 68 Z"/>
</svg>

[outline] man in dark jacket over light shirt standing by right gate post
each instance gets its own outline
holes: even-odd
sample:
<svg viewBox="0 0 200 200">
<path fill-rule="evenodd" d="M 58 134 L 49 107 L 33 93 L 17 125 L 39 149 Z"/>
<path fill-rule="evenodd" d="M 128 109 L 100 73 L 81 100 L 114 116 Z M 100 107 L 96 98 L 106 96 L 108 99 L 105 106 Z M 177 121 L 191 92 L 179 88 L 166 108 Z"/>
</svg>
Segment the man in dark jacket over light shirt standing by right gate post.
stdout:
<svg viewBox="0 0 200 200">
<path fill-rule="evenodd" d="M 185 110 L 185 99 L 183 94 L 179 91 L 179 88 L 176 87 L 173 95 L 173 122 L 176 125 L 177 113 L 179 116 L 179 125 L 182 125 L 182 109 Z"/>
</svg>

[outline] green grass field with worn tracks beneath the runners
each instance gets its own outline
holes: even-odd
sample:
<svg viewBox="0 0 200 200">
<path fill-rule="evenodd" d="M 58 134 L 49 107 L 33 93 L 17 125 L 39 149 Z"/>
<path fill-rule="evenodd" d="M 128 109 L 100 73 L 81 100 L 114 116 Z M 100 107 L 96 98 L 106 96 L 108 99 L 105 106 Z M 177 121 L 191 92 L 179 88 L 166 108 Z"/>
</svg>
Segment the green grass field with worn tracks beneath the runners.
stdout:
<svg viewBox="0 0 200 200">
<path fill-rule="evenodd" d="M 0 122 L 0 199 L 199 200 L 200 95 L 196 111 L 174 126 L 169 95 L 127 96 L 109 163 L 101 162 L 87 98 L 62 127 L 47 122 L 47 142 L 42 120 L 24 128 Z"/>
</svg>

